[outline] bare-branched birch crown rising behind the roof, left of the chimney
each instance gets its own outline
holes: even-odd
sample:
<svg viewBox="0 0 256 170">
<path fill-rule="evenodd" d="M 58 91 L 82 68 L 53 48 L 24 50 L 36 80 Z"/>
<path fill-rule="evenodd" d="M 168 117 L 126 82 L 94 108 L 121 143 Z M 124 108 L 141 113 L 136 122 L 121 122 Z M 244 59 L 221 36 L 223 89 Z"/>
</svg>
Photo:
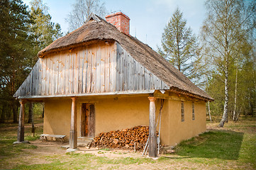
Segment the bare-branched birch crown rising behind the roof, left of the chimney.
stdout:
<svg viewBox="0 0 256 170">
<path fill-rule="evenodd" d="M 101 0 L 76 0 L 72 11 L 65 18 L 69 24 L 69 32 L 82 26 L 91 13 L 104 18 L 106 15 L 105 4 L 101 3 Z"/>
</svg>

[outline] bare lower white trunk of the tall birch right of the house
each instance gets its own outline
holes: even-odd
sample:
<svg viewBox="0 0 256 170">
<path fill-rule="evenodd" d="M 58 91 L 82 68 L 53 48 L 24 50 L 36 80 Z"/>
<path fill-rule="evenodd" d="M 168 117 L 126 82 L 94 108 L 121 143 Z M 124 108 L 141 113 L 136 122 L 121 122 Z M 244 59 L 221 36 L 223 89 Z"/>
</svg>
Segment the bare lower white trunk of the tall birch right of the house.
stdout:
<svg viewBox="0 0 256 170">
<path fill-rule="evenodd" d="M 219 127 L 223 128 L 224 123 L 227 121 L 228 118 L 228 67 L 226 66 L 225 70 L 225 103 L 224 103 L 224 111 L 221 118 L 221 123 Z"/>
</svg>

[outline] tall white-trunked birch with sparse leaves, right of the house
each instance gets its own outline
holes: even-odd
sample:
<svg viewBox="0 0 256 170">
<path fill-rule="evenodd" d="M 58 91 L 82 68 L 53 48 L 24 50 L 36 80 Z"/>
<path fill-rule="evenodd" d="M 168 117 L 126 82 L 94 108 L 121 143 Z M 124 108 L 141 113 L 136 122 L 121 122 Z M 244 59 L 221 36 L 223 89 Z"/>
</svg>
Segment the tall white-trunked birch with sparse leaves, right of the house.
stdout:
<svg viewBox="0 0 256 170">
<path fill-rule="evenodd" d="M 240 44 L 252 36 L 255 29 L 255 0 L 208 0 L 207 17 L 202 27 L 204 55 L 223 74 L 224 105 L 220 127 L 228 118 L 230 69 L 240 54 Z"/>
</svg>

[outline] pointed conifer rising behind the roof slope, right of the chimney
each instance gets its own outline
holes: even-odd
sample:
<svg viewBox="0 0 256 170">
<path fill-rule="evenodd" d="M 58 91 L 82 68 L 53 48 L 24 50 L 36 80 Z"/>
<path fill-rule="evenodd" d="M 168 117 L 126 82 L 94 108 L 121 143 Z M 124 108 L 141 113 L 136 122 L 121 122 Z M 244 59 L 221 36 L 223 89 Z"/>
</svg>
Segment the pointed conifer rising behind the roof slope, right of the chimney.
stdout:
<svg viewBox="0 0 256 170">
<path fill-rule="evenodd" d="M 194 67 L 197 47 L 195 35 L 187 27 L 183 13 L 177 8 L 162 33 L 162 50 L 158 49 L 160 55 L 189 79 L 194 80 L 199 77 Z"/>
</svg>

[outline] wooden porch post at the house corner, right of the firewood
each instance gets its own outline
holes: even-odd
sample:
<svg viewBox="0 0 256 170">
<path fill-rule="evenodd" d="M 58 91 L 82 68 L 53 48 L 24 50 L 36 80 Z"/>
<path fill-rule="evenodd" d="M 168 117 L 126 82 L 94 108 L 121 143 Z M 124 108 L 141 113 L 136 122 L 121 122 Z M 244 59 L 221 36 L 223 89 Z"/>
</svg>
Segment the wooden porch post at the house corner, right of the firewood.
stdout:
<svg viewBox="0 0 256 170">
<path fill-rule="evenodd" d="M 148 156 L 157 157 L 157 135 L 155 127 L 155 97 L 148 97 L 150 100 L 150 134 L 148 140 Z"/>
</svg>

